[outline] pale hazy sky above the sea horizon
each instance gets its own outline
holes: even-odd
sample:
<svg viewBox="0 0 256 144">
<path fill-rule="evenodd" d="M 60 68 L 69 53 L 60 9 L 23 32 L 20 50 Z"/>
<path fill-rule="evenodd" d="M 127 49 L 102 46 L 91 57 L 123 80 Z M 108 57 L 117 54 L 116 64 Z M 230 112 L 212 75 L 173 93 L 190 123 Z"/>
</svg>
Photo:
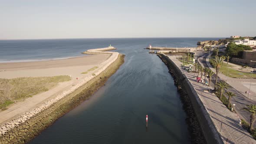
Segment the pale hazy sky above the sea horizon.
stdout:
<svg viewBox="0 0 256 144">
<path fill-rule="evenodd" d="M 256 0 L 0 0 L 0 39 L 256 36 Z"/>
</svg>

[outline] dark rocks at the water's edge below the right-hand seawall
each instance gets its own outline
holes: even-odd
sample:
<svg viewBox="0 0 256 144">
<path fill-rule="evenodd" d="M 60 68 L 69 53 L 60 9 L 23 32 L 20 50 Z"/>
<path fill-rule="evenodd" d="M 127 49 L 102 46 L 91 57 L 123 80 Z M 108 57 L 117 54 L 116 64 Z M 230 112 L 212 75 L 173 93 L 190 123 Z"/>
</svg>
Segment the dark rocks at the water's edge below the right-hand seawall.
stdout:
<svg viewBox="0 0 256 144">
<path fill-rule="evenodd" d="M 170 63 L 168 63 L 161 55 L 157 55 L 167 68 L 169 69 L 169 73 L 172 75 L 174 79 L 174 85 L 177 86 L 177 91 L 180 93 L 180 98 L 183 103 L 184 111 L 187 114 L 186 122 L 188 124 L 188 130 L 190 132 L 190 139 L 192 144 L 207 144 L 202 129 L 200 128 L 199 121 L 197 120 L 197 116 L 191 104 L 190 98 L 187 95 L 187 92 L 183 89 L 183 85 L 181 84 L 181 80 L 178 79 L 177 73 L 174 72 Z"/>
</svg>

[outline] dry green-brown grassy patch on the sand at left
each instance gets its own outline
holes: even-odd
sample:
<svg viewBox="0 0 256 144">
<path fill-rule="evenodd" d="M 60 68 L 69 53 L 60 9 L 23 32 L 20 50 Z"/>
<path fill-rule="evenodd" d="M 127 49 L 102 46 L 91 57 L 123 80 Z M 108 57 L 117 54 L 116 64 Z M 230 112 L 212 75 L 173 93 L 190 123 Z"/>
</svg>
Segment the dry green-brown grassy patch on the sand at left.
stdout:
<svg viewBox="0 0 256 144">
<path fill-rule="evenodd" d="M 59 82 L 69 80 L 71 78 L 68 75 L 0 79 L 0 109 L 6 109 L 14 101 L 46 92 L 58 85 Z"/>
</svg>

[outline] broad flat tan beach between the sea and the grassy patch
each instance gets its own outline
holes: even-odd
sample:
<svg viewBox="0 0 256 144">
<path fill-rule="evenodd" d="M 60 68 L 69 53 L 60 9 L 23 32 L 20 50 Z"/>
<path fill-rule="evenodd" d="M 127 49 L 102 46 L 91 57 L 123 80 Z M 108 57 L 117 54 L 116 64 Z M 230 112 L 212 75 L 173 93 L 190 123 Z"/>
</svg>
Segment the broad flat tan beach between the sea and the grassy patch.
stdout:
<svg viewBox="0 0 256 144">
<path fill-rule="evenodd" d="M 12 79 L 55 75 L 81 77 L 85 76 L 81 72 L 99 65 L 109 56 L 110 54 L 95 54 L 49 61 L 0 63 L 0 78 Z"/>
</svg>

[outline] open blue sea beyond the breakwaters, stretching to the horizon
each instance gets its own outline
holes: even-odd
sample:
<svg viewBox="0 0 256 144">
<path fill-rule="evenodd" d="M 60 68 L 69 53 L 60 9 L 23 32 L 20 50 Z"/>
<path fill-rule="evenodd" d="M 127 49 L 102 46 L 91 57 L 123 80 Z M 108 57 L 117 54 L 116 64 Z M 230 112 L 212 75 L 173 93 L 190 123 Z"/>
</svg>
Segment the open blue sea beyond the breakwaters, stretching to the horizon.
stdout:
<svg viewBox="0 0 256 144">
<path fill-rule="evenodd" d="M 127 38 L 127 39 L 34 39 L 0 40 L 0 62 L 24 62 L 65 59 L 83 56 L 87 49 L 108 47 L 127 49 L 134 45 L 163 47 L 192 47 L 197 41 L 218 38 Z"/>
</svg>

